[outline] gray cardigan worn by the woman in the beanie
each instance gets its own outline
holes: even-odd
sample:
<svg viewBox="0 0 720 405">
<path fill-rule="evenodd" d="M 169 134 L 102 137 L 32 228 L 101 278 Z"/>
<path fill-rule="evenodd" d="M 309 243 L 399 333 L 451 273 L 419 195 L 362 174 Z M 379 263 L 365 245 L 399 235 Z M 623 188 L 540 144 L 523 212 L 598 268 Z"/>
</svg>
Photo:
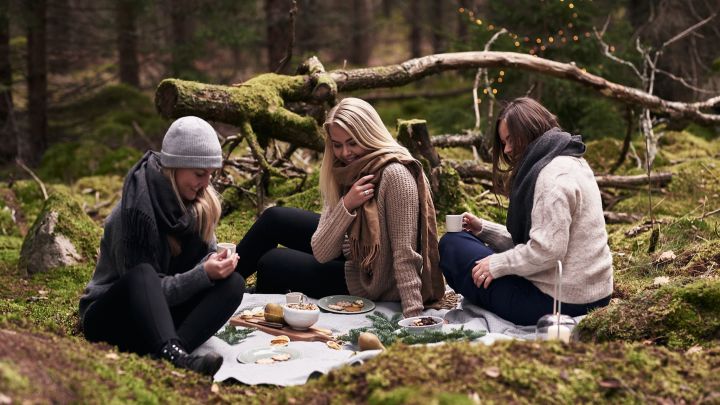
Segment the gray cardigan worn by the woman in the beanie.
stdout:
<svg viewBox="0 0 720 405">
<path fill-rule="evenodd" d="M 170 246 L 167 238 L 160 238 L 161 248 L 158 261 L 162 268 L 170 264 Z M 204 263 L 210 253 L 215 252 L 217 243 L 213 238 L 208 248 L 208 254 L 194 268 L 179 274 L 165 275 L 158 272 L 160 285 L 165 293 L 168 304 L 177 305 L 193 295 L 213 285 L 205 272 Z M 120 204 L 117 204 L 105 220 L 105 232 L 100 242 L 100 256 L 98 257 L 95 273 L 85 287 L 80 297 L 80 319 L 84 320 L 85 312 L 95 300 L 100 298 L 124 273 L 122 255 L 122 225 L 120 221 Z M 158 271 L 158 269 L 155 269 Z"/>
</svg>

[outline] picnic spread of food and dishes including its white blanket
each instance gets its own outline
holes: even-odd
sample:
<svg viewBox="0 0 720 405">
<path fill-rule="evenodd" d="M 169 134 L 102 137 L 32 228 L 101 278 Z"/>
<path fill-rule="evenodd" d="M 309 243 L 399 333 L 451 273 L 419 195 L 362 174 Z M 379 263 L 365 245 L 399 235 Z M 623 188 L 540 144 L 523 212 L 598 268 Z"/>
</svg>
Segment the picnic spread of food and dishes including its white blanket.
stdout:
<svg viewBox="0 0 720 405">
<path fill-rule="evenodd" d="M 487 345 L 496 340 L 535 339 L 534 325 L 513 325 L 480 307 L 463 303 L 461 299 L 451 309 L 426 309 L 420 317 L 416 317 L 418 319 L 405 320 L 410 321 L 404 322 L 405 326 L 397 322 L 402 319 L 399 303 L 372 302 L 351 296 L 331 296 L 320 300 L 305 298 L 303 304 L 308 305 L 310 311 L 322 309 L 317 321 L 306 328 L 293 329 L 282 322 L 265 319 L 266 305 L 272 304 L 270 308 L 273 305 L 282 307 L 288 305 L 287 300 L 282 294 L 245 294 L 225 328 L 195 350 L 195 354 L 214 351 L 223 356 L 224 362 L 214 376 L 215 381 L 234 379 L 248 385 L 304 384 L 308 379 L 334 368 L 361 364 L 380 354 L 382 349 L 360 350 L 357 343 L 362 339 L 358 337 L 365 339 L 359 342 L 361 346 L 366 345 L 363 348 L 382 347 L 379 341 L 379 346 L 372 346 L 374 343 L 367 346 L 367 339 L 374 340 L 376 335 L 363 334 L 365 329 L 378 335 L 385 333 L 381 336 L 383 338 L 388 337 L 387 333 L 394 334 L 393 338 L 404 337 L 403 342 L 406 343 L 416 342 L 411 339 L 413 336 L 426 337 L 428 333 L 438 332 L 476 337 L 474 342 Z M 342 309 L 350 306 L 355 308 L 350 311 Z M 366 310 L 368 307 L 372 309 Z M 578 317 L 574 321 L 580 319 Z M 382 330 L 371 329 L 378 322 L 382 324 Z M 424 328 L 436 331 L 415 334 L 424 332 Z M 424 340 L 419 342 L 427 343 Z"/>
</svg>

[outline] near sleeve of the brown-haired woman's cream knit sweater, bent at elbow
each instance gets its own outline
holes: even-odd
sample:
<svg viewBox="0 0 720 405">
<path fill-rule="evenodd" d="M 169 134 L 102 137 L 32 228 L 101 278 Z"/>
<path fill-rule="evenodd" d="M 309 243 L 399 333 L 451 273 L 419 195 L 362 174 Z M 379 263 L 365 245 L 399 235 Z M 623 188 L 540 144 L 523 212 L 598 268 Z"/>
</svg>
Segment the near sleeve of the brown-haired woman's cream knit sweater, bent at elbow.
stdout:
<svg viewBox="0 0 720 405">
<path fill-rule="evenodd" d="M 508 274 L 530 276 L 552 268 L 568 248 L 570 225 L 580 188 L 572 173 L 552 163 L 538 176 L 531 213 L 530 240 L 490 256 L 494 278 Z"/>
</svg>

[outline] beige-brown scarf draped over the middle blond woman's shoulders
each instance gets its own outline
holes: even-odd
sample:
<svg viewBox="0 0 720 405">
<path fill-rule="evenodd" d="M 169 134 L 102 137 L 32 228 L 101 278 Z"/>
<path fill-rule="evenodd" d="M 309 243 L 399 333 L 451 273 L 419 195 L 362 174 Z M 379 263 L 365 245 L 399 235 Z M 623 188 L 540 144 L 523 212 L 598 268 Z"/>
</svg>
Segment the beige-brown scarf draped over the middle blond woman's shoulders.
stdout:
<svg viewBox="0 0 720 405">
<path fill-rule="evenodd" d="M 356 181 L 369 174 L 375 175 L 370 183 L 377 187 L 383 170 L 391 163 L 404 165 L 415 176 L 420 206 L 418 248 L 423 257 L 423 269 L 420 274 L 422 297 L 423 302 L 435 301 L 444 295 L 445 282 L 439 267 L 435 206 L 420 162 L 397 152 L 378 150 L 346 166 L 336 163 L 333 167 L 333 175 L 340 190 L 345 194 Z M 380 219 L 375 198 L 368 200 L 357 209 L 357 216 L 350 225 L 348 239 L 353 259 L 357 260 L 361 269 L 369 272 L 380 250 Z"/>
</svg>

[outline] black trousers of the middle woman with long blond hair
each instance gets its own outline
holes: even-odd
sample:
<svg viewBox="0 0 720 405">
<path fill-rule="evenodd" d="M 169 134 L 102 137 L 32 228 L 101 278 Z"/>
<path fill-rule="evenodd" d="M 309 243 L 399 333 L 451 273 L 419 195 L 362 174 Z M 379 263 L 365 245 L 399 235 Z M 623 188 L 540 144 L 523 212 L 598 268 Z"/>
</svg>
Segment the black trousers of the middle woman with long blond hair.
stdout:
<svg viewBox="0 0 720 405">
<path fill-rule="evenodd" d="M 320 263 L 312 254 L 310 239 L 319 222 L 319 214 L 298 208 L 266 209 L 237 245 L 236 271 L 246 278 L 257 271 L 258 293 L 347 294 L 345 258 Z"/>
</svg>

